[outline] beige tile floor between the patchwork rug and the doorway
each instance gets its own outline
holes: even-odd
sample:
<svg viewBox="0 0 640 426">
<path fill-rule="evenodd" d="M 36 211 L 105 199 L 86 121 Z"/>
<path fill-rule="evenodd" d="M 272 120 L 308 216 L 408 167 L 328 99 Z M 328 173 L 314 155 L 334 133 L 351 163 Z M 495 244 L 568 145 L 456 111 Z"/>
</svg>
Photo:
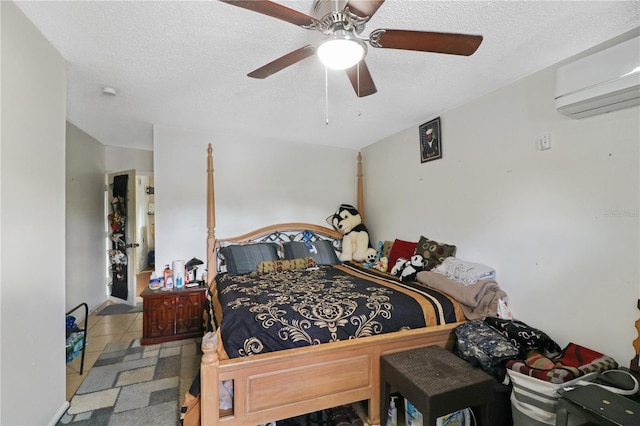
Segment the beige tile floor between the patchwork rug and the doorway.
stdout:
<svg viewBox="0 0 640 426">
<path fill-rule="evenodd" d="M 98 356 L 109 342 L 128 342 L 142 337 L 142 312 L 119 315 L 96 315 L 102 308 L 114 302 L 106 301 L 89 315 L 87 347 L 84 355 L 84 371 L 80 374 L 81 356 L 67 364 L 67 401 L 76 392 Z M 84 322 L 78 324 L 83 327 Z"/>
</svg>

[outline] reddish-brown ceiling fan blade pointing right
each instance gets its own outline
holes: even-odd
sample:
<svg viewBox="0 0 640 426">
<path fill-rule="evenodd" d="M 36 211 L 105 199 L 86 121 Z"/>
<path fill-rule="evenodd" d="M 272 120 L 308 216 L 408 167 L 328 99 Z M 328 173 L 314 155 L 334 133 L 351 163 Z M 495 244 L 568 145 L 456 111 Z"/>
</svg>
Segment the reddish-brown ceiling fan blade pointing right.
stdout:
<svg viewBox="0 0 640 426">
<path fill-rule="evenodd" d="M 371 32 L 369 43 L 385 49 L 472 55 L 482 43 L 481 35 L 434 33 L 428 31 L 386 30 Z"/>
</svg>

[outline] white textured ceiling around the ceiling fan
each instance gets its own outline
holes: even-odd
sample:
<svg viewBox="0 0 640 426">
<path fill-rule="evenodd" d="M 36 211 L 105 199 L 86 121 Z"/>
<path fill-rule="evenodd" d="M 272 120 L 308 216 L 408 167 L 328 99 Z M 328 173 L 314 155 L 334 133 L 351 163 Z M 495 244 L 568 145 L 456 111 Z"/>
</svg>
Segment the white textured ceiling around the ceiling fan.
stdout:
<svg viewBox="0 0 640 426">
<path fill-rule="evenodd" d="M 278 1 L 312 15 L 312 0 Z M 322 34 L 219 1 L 17 1 L 68 61 L 68 121 L 150 150 L 152 126 L 358 149 L 640 26 L 640 1 L 387 0 L 377 28 L 480 34 L 469 57 L 369 48 L 378 93 L 312 56 L 246 74 Z M 118 91 L 102 94 L 103 86 Z M 328 89 L 328 90 L 327 90 Z M 327 101 L 328 100 L 328 101 Z M 328 118 L 328 124 L 326 120 Z"/>
</svg>

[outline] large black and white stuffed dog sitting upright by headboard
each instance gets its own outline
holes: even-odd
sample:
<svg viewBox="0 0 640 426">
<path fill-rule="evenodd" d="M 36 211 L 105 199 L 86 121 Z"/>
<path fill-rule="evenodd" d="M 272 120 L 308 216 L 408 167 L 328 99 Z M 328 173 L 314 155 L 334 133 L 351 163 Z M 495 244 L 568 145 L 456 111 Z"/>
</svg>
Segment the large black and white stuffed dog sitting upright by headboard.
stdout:
<svg viewBox="0 0 640 426">
<path fill-rule="evenodd" d="M 362 223 L 362 217 L 358 210 L 350 204 L 341 204 L 336 212 L 327 218 L 327 222 L 333 226 L 342 236 L 342 252 L 340 260 L 347 262 L 374 262 L 376 250 L 369 241 L 369 231 Z"/>
</svg>

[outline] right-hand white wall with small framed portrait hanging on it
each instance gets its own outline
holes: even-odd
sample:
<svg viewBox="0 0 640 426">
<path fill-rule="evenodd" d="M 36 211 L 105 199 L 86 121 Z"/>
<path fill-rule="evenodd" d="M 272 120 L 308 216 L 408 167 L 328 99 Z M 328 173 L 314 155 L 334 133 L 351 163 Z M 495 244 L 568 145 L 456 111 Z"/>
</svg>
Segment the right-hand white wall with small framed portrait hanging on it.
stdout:
<svg viewBox="0 0 640 426">
<path fill-rule="evenodd" d="M 367 147 L 367 225 L 374 241 L 455 244 L 458 257 L 496 268 L 517 318 L 628 366 L 640 111 L 567 118 L 554 108 L 554 69 L 443 113 L 440 160 L 420 163 L 418 125 Z M 552 148 L 536 150 L 544 133 Z"/>
</svg>

